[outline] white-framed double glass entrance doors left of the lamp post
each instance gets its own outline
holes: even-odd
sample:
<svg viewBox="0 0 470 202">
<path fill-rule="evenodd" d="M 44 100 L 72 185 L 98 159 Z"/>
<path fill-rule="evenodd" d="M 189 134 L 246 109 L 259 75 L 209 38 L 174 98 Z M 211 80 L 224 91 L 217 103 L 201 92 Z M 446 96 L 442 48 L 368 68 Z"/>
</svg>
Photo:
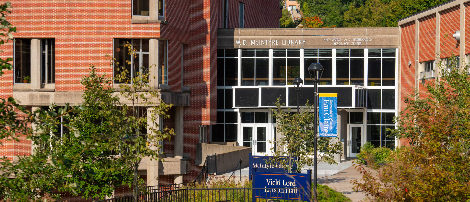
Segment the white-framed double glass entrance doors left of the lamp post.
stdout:
<svg viewBox="0 0 470 202">
<path fill-rule="evenodd" d="M 243 146 L 251 147 L 251 153 L 253 155 L 265 155 L 271 154 L 268 138 L 270 133 L 268 132 L 266 125 L 242 125 L 243 131 Z"/>
</svg>

